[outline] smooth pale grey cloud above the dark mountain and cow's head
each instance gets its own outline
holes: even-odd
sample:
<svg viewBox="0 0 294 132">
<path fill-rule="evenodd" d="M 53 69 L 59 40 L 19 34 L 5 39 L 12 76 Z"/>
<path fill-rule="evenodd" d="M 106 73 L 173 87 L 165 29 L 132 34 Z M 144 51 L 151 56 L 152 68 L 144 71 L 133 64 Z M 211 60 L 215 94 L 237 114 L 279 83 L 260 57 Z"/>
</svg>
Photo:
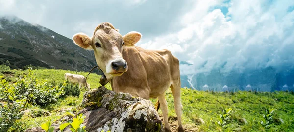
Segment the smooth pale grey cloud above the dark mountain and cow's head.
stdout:
<svg viewBox="0 0 294 132">
<path fill-rule="evenodd" d="M 170 27 L 178 25 L 178 17 L 186 10 L 188 1 L 0 0 L 0 16 L 15 15 L 68 38 L 76 31 L 91 35 L 101 22 L 112 23 L 122 34 L 139 31 L 150 37 L 173 30 Z"/>
</svg>

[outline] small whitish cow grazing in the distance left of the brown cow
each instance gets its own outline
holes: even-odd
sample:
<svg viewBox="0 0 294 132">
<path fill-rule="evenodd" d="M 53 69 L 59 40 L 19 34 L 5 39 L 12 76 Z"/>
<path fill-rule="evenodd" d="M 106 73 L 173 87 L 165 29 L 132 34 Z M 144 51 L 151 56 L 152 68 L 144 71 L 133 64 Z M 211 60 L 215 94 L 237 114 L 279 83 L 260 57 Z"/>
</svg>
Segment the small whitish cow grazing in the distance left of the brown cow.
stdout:
<svg viewBox="0 0 294 132">
<path fill-rule="evenodd" d="M 73 83 L 79 83 L 79 88 L 81 88 L 82 86 L 87 86 L 86 78 L 83 75 L 65 73 L 64 78 L 65 80 L 69 80 Z M 88 84 L 88 88 L 90 88 L 90 84 Z"/>
</svg>

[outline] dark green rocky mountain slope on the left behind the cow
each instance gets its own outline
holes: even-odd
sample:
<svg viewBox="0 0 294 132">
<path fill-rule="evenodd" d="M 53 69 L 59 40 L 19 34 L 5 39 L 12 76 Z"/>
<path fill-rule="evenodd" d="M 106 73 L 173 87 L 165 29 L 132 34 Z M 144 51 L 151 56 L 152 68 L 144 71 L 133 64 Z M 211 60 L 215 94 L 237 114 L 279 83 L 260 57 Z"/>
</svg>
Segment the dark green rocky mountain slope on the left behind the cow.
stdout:
<svg viewBox="0 0 294 132">
<path fill-rule="evenodd" d="M 93 51 L 84 50 L 65 36 L 15 16 L 0 18 L 0 60 L 8 60 L 13 68 L 31 64 L 89 71 L 96 66 Z"/>
</svg>

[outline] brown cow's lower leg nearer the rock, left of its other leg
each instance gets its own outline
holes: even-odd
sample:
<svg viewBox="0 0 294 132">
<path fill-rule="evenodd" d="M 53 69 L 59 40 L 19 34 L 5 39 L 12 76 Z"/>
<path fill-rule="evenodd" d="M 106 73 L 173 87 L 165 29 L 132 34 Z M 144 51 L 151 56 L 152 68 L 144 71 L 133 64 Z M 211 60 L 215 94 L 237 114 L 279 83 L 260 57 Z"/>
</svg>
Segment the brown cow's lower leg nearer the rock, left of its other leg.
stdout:
<svg viewBox="0 0 294 132">
<path fill-rule="evenodd" d="M 168 105 L 165 99 L 165 93 L 158 96 L 158 101 L 160 103 L 160 110 L 163 114 L 163 122 L 164 122 L 164 132 L 170 132 L 170 125 L 168 119 Z"/>
</svg>

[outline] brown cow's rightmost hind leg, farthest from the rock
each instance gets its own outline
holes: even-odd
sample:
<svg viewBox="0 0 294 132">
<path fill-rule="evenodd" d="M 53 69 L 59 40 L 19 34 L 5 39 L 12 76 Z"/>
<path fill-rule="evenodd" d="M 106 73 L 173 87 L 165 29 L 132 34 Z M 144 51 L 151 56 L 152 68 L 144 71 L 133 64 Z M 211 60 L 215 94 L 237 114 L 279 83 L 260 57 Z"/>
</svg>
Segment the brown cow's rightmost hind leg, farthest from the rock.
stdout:
<svg viewBox="0 0 294 132">
<path fill-rule="evenodd" d="M 181 103 L 181 86 L 179 83 L 173 83 L 171 85 L 172 89 L 172 95 L 174 99 L 174 108 L 175 108 L 175 113 L 177 115 L 177 120 L 178 120 L 178 132 L 185 132 L 183 126 L 182 126 L 182 111 L 183 111 L 183 106 Z M 161 108 L 160 108 L 161 109 Z"/>
</svg>

